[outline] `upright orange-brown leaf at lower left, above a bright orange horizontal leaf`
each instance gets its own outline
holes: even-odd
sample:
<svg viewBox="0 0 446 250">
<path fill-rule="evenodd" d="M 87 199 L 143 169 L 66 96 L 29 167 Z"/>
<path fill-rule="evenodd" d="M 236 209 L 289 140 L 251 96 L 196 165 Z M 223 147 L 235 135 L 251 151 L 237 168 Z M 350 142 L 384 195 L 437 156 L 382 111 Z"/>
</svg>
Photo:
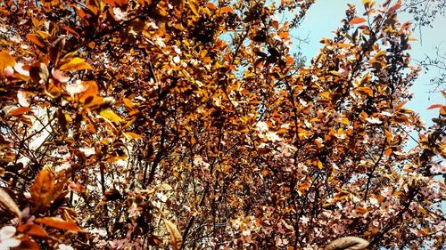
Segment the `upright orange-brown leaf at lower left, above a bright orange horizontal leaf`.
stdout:
<svg viewBox="0 0 446 250">
<path fill-rule="evenodd" d="M 36 181 L 31 186 L 31 199 L 37 207 L 49 206 L 53 201 L 54 173 L 43 168 L 37 173 Z"/>
</svg>

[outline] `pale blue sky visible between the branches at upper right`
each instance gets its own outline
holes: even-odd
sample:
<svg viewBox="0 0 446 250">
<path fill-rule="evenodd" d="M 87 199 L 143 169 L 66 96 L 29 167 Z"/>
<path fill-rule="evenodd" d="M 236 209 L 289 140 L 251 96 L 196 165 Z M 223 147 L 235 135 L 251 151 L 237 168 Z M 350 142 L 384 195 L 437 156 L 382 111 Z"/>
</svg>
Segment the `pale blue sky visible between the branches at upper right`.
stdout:
<svg viewBox="0 0 446 250">
<path fill-rule="evenodd" d="M 377 0 L 376 4 L 383 2 L 384 1 Z M 345 10 L 347 10 L 347 4 L 349 3 L 356 4 L 358 15 L 361 15 L 364 12 L 361 0 L 316 0 L 316 3 L 310 7 L 305 20 L 301 23 L 301 27 L 292 34 L 293 36 L 300 38 L 308 36 L 309 43 L 301 43 L 299 49 L 299 51 L 307 57 L 307 61 L 310 61 L 321 48 L 322 44 L 319 43 L 319 40 L 322 37 L 333 37 L 333 30 L 342 25 L 341 20 L 345 17 Z M 401 14 L 399 15 L 399 20 L 404 22 L 406 20 L 411 20 L 411 17 L 409 14 Z M 422 29 L 422 44 L 419 42 L 418 30 L 414 31 L 413 36 L 415 36 L 418 41 L 412 42 L 411 44 L 412 50 L 410 51 L 410 54 L 413 59 L 423 60 L 425 54 L 434 56 L 435 46 L 440 44 L 442 44 L 442 52 L 446 53 L 446 32 L 444 32 L 446 18 L 437 15 L 433 27 L 434 28 L 424 27 Z M 423 70 L 423 72 L 425 72 L 425 70 Z M 422 73 L 411 89 L 412 92 L 415 93 L 414 99 L 406 104 L 406 108 L 414 109 L 420 114 L 426 125 L 431 125 L 431 119 L 433 117 L 438 117 L 438 109 L 427 110 L 427 108 L 434 103 L 444 102 L 441 93 L 428 93 L 429 90 L 433 89 L 433 86 L 428 85 L 429 80 L 436 74 L 438 74 L 438 71 L 436 70 Z"/>
</svg>

